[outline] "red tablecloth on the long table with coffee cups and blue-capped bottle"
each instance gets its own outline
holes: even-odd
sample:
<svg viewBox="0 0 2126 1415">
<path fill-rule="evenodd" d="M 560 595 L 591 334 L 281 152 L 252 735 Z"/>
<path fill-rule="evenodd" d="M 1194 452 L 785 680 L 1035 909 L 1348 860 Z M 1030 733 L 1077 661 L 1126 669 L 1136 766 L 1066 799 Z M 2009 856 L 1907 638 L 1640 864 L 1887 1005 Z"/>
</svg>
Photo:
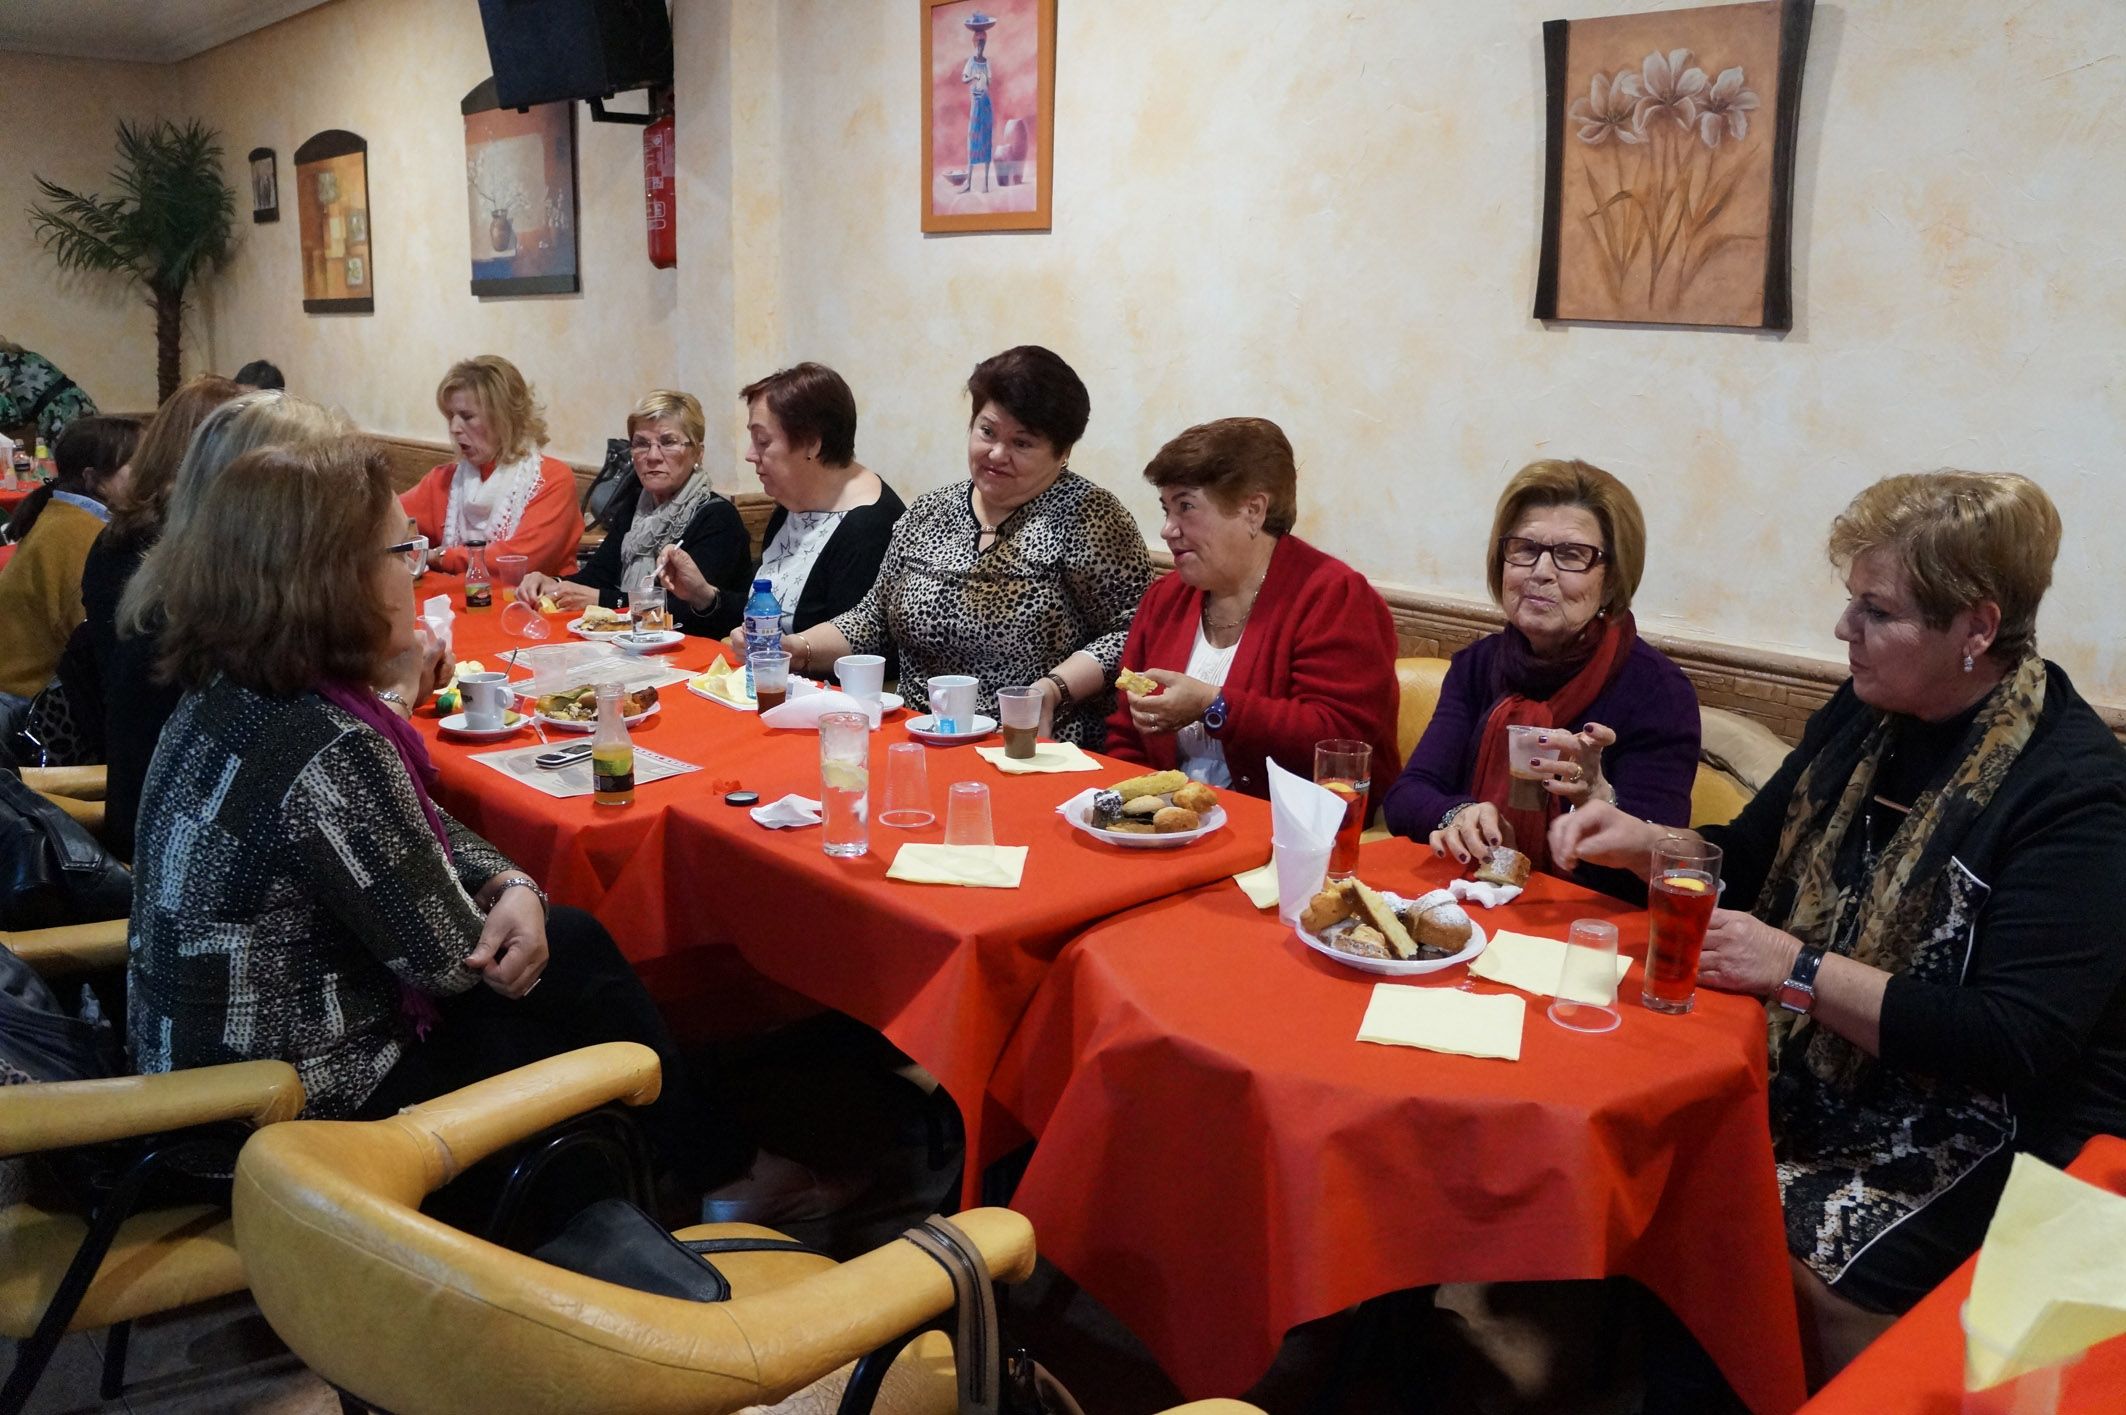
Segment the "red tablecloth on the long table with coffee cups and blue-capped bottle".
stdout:
<svg viewBox="0 0 2126 1415">
<path fill-rule="evenodd" d="M 423 599 L 440 593 L 429 589 L 436 582 L 455 591 L 455 580 L 429 576 Z M 514 646 L 493 614 L 461 614 L 455 633 L 459 659 L 495 661 L 495 650 Z M 702 640 L 659 661 L 706 667 L 714 652 Z M 1054 807 L 1140 767 L 1103 758 L 1099 773 L 1003 775 L 972 746 L 925 754 L 938 824 L 893 831 L 874 822 L 867 856 L 829 858 L 819 829 L 767 831 L 710 790 L 716 780 L 738 780 L 761 801 L 789 792 L 819 799 L 819 737 L 767 731 L 759 718 L 682 686 L 665 688 L 659 714 L 634 735 L 704 769 L 642 786 L 621 809 L 589 797 L 555 801 L 472 761 L 529 735 L 463 744 L 438 739 L 427 712 L 417 722 L 432 737 L 438 795 L 451 812 L 536 873 L 555 899 L 597 914 L 631 960 L 731 948 L 761 975 L 876 1026 L 959 1103 L 969 1158 L 993 1156 L 1016 1137 L 1010 1126 L 1003 1135 L 984 1128 L 984 1094 L 1057 952 L 1110 914 L 1269 858 L 1265 801 L 1227 792 L 1222 831 L 1178 850 L 1125 850 L 1074 831 Z M 887 746 L 906 739 L 904 716 L 887 718 L 874 735 L 872 782 L 880 788 Z M 1020 888 L 884 877 L 901 843 L 944 839 L 946 786 L 959 780 L 989 784 L 997 843 L 1031 846 Z M 972 1162 L 969 1196 L 978 1177 Z"/>
</svg>

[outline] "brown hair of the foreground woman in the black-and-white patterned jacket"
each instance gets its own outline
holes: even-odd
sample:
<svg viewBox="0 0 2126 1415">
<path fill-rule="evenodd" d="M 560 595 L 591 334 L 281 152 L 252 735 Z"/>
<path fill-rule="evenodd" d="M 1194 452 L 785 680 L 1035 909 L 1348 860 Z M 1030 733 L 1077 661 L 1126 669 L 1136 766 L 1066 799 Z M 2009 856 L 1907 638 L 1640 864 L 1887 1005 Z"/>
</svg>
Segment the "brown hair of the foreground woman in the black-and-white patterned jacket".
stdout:
<svg viewBox="0 0 2126 1415">
<path fill-rule="evenodd" d="M 368 586 L 393 506 L 391 461 L 368 438 L 244 453 L 206 489 L 185 535 L 164 538 L 162 674 L 187 688 L 217 674 L 272 697 L 366 684 L 391 642 Z"/>
</svg>

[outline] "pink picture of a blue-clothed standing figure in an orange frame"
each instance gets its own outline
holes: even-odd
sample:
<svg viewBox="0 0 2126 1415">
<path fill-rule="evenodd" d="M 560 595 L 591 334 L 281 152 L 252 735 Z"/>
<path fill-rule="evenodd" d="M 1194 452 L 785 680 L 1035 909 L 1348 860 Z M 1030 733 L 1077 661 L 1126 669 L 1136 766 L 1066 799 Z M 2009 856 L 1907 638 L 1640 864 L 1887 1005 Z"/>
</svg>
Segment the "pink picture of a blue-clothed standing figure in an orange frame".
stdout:
<svg viewBox="0 0 2126 1415">
<path fill-rule="evenodd" d="M 923 0 L 923 229 L 1046 232 L 1054 0 Z"/>
</svg>

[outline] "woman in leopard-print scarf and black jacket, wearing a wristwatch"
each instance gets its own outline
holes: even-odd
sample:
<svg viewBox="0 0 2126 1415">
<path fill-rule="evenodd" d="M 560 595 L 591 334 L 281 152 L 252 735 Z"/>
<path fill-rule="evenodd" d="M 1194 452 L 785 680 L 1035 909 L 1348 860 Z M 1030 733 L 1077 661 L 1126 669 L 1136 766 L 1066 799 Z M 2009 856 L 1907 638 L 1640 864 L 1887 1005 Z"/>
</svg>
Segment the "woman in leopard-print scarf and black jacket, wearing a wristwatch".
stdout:
<svg viewBox="0 0 2126 1415">
<path fill-rule="evenodd" d="M 2126 750 L 2037 654 L 2060 514 L 1892 476 L 1830 527 L 1852 680 L 1726 826 L 1699 982 L 1771 1003 L 1771 1128 L 1811 1379 L 1986 1237 L 2015 1152 L 2126 1135 Z M 1648 873 L 1614 805 L 1552 852 Z"/>
</svg>

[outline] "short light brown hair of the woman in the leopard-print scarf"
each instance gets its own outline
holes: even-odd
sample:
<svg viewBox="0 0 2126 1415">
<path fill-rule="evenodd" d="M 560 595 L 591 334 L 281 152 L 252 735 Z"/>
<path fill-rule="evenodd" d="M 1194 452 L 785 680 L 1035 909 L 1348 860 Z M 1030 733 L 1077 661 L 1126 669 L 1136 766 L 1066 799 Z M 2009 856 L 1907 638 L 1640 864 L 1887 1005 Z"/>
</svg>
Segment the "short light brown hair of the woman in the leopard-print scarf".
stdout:
<svg viewBox="0 0 2126 1415">
<path fill-rule="evenodd" d="M 2060 555 L 2060 510 L 2043 487 L 2013 472 L 1886 476 L 1830 523 L 1833 565 L 1869 550 L 1896 557 L 1935 629 L 1988 599 L 2001 606 L 1988 652 L 2015 663 L 2037 648 L 2037 606 Z"/>
</svg>

